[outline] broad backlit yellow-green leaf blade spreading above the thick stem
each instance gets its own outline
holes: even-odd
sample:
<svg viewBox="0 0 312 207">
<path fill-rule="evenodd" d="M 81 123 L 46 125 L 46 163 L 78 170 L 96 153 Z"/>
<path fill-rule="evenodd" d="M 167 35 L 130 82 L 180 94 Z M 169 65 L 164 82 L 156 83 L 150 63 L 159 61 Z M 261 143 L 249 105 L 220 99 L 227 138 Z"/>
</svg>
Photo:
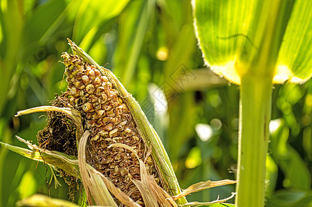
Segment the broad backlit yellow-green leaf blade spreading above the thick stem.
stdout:
<svg viewBox="0 0 312 207">
<path fill-rule="evenodd" d="M 205 63 L 240 84 L 248 70 L 274 83 L 312 75 L 312 1 L 193 1 Z M 265 67 L 254 67 L 263 64 Z M 264 73 L 266 74 L 266 73 Z"/>
</svg>

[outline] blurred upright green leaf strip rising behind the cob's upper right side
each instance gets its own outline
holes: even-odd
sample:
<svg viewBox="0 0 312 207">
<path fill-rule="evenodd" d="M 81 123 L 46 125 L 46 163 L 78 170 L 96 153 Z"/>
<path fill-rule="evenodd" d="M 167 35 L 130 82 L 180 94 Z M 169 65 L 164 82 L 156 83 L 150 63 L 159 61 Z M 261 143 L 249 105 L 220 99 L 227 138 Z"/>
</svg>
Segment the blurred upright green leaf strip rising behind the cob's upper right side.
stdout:
<svg viewBox="0 0 312 207">
<path fill-rule="evenodd" d="M 116 49 L 115 74 L 128 87 L 136 71 L 136 63 L 143 46 L 149 21 L 154 14 L 155 1 L 132 1 L 119 28 L 118 48 Z"/>
</svg>

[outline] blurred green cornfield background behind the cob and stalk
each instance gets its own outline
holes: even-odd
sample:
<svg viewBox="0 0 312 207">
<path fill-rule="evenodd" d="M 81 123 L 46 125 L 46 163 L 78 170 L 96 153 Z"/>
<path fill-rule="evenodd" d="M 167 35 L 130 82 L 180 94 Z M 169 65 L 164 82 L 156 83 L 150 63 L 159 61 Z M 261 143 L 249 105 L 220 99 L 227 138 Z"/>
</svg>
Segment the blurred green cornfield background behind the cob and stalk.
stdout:
<svg viewBox="0 0 312 207">
<path fill-rule="evenodd" d="M 203 66 L 190 0 L 1 0 L 0 7 L 0 141 L 26 147 L 19 135 L 36 143 L 44 114 L 14 115 L 48 105 L 66 90 L 59 61 L 70 52 L 70 38 L 112 70 L 141 104 L 181 188 L 235 179 L 239 87 Z M 312 206 L 311 117 L 311 81 L 275 86 L 268 206 Z M 56 189 L 50 179 L 48 166 L 0 148 L 0 206 L 15 206 L 35 193 L 68 199 L 63 179 Z M 212 201 L 234 191 L 223 186 L 187 199 Z"/>
</svg>

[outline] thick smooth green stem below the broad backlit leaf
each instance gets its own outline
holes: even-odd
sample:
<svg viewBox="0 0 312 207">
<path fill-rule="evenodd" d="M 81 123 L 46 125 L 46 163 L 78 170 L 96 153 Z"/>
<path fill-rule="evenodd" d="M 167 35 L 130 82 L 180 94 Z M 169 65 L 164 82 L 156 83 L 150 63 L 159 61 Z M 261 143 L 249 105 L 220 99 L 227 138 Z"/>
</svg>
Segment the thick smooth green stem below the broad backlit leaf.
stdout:
<svg viewBox="0 0 312 207">
<path fill-rule="evenodd" d="M 264 206 L 272 77 L 244 75 L 239 103 L 238 207 Z"/>
</svg>

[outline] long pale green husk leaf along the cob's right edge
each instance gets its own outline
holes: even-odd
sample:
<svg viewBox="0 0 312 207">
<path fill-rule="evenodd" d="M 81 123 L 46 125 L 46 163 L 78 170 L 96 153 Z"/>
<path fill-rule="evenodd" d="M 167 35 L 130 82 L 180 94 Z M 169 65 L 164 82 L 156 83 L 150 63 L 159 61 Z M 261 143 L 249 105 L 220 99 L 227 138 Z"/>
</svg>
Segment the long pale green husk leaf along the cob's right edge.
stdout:
<svg viewBox="0 0 312 207">
<path fill-rule="evenodd" d="M 172 164 L 169 160 L 167 152 L 162 142 L 160 141 L 160 138 L 158 137 L 156 131 L 154 130 L 152 125 L 149 124 L 149 121 L 147 120 L 147 117 L 145 116 L 143 110 L 141 110 L 138 102 L 134 99 L 134 97 L 131 96 L 131 94 L 127 92 L 125 87 L 122 86 L 122 83 L 120 83 L 120 81 L 116 78 L 115 75 L 113 75 L 110 70 L 107 70 L 106 68 L 99 66 L 98 63 L 95 63 L 95 61 L 93 61 L 93 59 L 91 59 L 91 57 L 89 57 L 86 52 L 84 52 L 81 48 L 77 47 L 75 43 L 73 43 L 71 40 L 68 39 L 68 43 L 71 46 L 74 55 L 81 57 L 84 61 L 86 61 L 86 63 L 95 66 L 102 75 L 109 77 L 112 85 L 120 94 L 122 101 L 125 101 L 125 103 L 127 103 L 129 112 L 131 112 L 131 116 L 136 124 L 138 134 L 142 137 L 147 148 L 149 148 L 149 146 L 152 146 L 152 157 L 156 162 L 156 168 L 160 175 L 160 179 L 163 179 L 163 182 L 167 184 L 167 190 L 169 191 L 169 195 L 173 196 L 181 193 L 180 186 L 178 185 L 178 181 L 174 174 L 174 170 L 172 168 Z M 184 197 L 181 197 L 177 200 L 177 203 L 185 204 L 186 199 Z"/>
</svg>

